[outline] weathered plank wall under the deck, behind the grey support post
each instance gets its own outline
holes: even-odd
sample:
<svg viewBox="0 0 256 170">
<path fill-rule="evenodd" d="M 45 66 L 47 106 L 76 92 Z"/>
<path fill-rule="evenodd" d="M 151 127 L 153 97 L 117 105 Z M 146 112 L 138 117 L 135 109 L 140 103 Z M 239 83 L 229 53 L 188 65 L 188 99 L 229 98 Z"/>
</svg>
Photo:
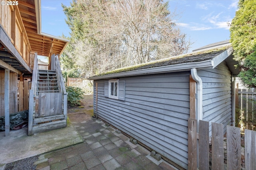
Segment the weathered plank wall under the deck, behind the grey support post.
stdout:
<svg viewBox="0 0 256 170">
<path fill-rule="evenodd" d="M 9 108 L 10 114 L 18 111 L 18 77 L 10 72 Z M 0 70 L 0 116 L 4 116 L 4 70 Z"/>
</svg>

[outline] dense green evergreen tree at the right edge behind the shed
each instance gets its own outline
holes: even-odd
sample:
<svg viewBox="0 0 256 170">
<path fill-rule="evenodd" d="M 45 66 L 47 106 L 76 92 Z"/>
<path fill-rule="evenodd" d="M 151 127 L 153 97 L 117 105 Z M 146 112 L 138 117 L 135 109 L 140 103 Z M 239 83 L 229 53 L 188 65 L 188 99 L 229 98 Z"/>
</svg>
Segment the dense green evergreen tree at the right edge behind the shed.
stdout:
<svg viewBox="0 0 256 170">
<path fill-rule="evenodd" d="M 256 87 L 256 0 L 240 0 L 230 27 L 234 59 L 240 61 L 242 82 Z"/>
</svg>

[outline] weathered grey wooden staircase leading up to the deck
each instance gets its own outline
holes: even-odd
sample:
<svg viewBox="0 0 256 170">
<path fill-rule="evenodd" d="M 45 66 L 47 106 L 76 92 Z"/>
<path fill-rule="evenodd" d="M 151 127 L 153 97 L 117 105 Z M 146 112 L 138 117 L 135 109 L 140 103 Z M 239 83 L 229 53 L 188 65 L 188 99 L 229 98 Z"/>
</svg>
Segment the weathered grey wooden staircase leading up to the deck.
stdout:
<svg viewBox="0 0 256 170">
<path fill-rule="evenodd" d="M 67 93 L 58 56 L 52 55 L 54 70 L 39 70 L 35 58 L 29 96 L 28 135 L 67 126 Z"/>
</svg>

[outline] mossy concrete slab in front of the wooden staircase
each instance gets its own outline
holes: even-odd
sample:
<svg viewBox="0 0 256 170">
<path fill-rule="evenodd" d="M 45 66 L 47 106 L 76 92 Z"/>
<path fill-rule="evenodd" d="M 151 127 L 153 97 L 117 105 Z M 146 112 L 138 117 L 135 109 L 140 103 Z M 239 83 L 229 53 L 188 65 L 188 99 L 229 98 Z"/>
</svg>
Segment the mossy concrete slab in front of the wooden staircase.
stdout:
<svg viewBox="0 0 256 170">
<path fill-rule="evenodd" d="M 28 136 L 28 128 L 0 132 L 0 164 L 14 162 L 38 154 L 82 143 L 84 140 L 72 125 Z"/>
</svg>

